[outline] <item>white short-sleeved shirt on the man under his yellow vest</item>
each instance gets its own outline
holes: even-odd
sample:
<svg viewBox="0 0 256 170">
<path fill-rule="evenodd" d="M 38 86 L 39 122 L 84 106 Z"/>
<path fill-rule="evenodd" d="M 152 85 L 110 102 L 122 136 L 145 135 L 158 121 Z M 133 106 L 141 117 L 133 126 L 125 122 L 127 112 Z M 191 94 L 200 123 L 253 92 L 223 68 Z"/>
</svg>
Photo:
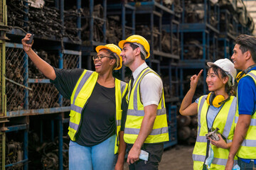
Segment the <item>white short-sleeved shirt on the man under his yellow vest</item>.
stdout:
<svg viewBox="0 0 256 170">
<path fill-rule="evenodd" d="M 144 64 L 135 69 L 135 71 L 132 73 L 132 77 L 134 77 L 134 83 L 137 81 L 139 74 L 146 67 L 148 67 L 148 65 L 146 62 L 144 62 Z M 162 94 L 162 89 L 163 82 L 159 76 L 152 72 L 146 74 L 140 84 L 140 94 L 143 106 L 145 107 L 151 104 L 158 106 Z"/>
</svg>

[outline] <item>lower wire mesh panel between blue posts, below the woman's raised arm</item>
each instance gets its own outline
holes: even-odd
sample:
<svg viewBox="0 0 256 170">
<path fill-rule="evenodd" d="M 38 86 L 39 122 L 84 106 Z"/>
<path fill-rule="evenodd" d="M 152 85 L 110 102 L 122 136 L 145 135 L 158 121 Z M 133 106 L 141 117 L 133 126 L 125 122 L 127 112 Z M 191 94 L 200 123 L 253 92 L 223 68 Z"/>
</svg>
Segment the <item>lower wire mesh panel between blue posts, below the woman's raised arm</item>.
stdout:
<svg viewBox="0 0 256 170">
<path fill-rule="evenodd" d="M 33 89 L 28 92 L 29 109 L 60 107 L 58 104 L 59 93 L 53 84 L 31 83 L 29 87 Z"/>
</svg>

